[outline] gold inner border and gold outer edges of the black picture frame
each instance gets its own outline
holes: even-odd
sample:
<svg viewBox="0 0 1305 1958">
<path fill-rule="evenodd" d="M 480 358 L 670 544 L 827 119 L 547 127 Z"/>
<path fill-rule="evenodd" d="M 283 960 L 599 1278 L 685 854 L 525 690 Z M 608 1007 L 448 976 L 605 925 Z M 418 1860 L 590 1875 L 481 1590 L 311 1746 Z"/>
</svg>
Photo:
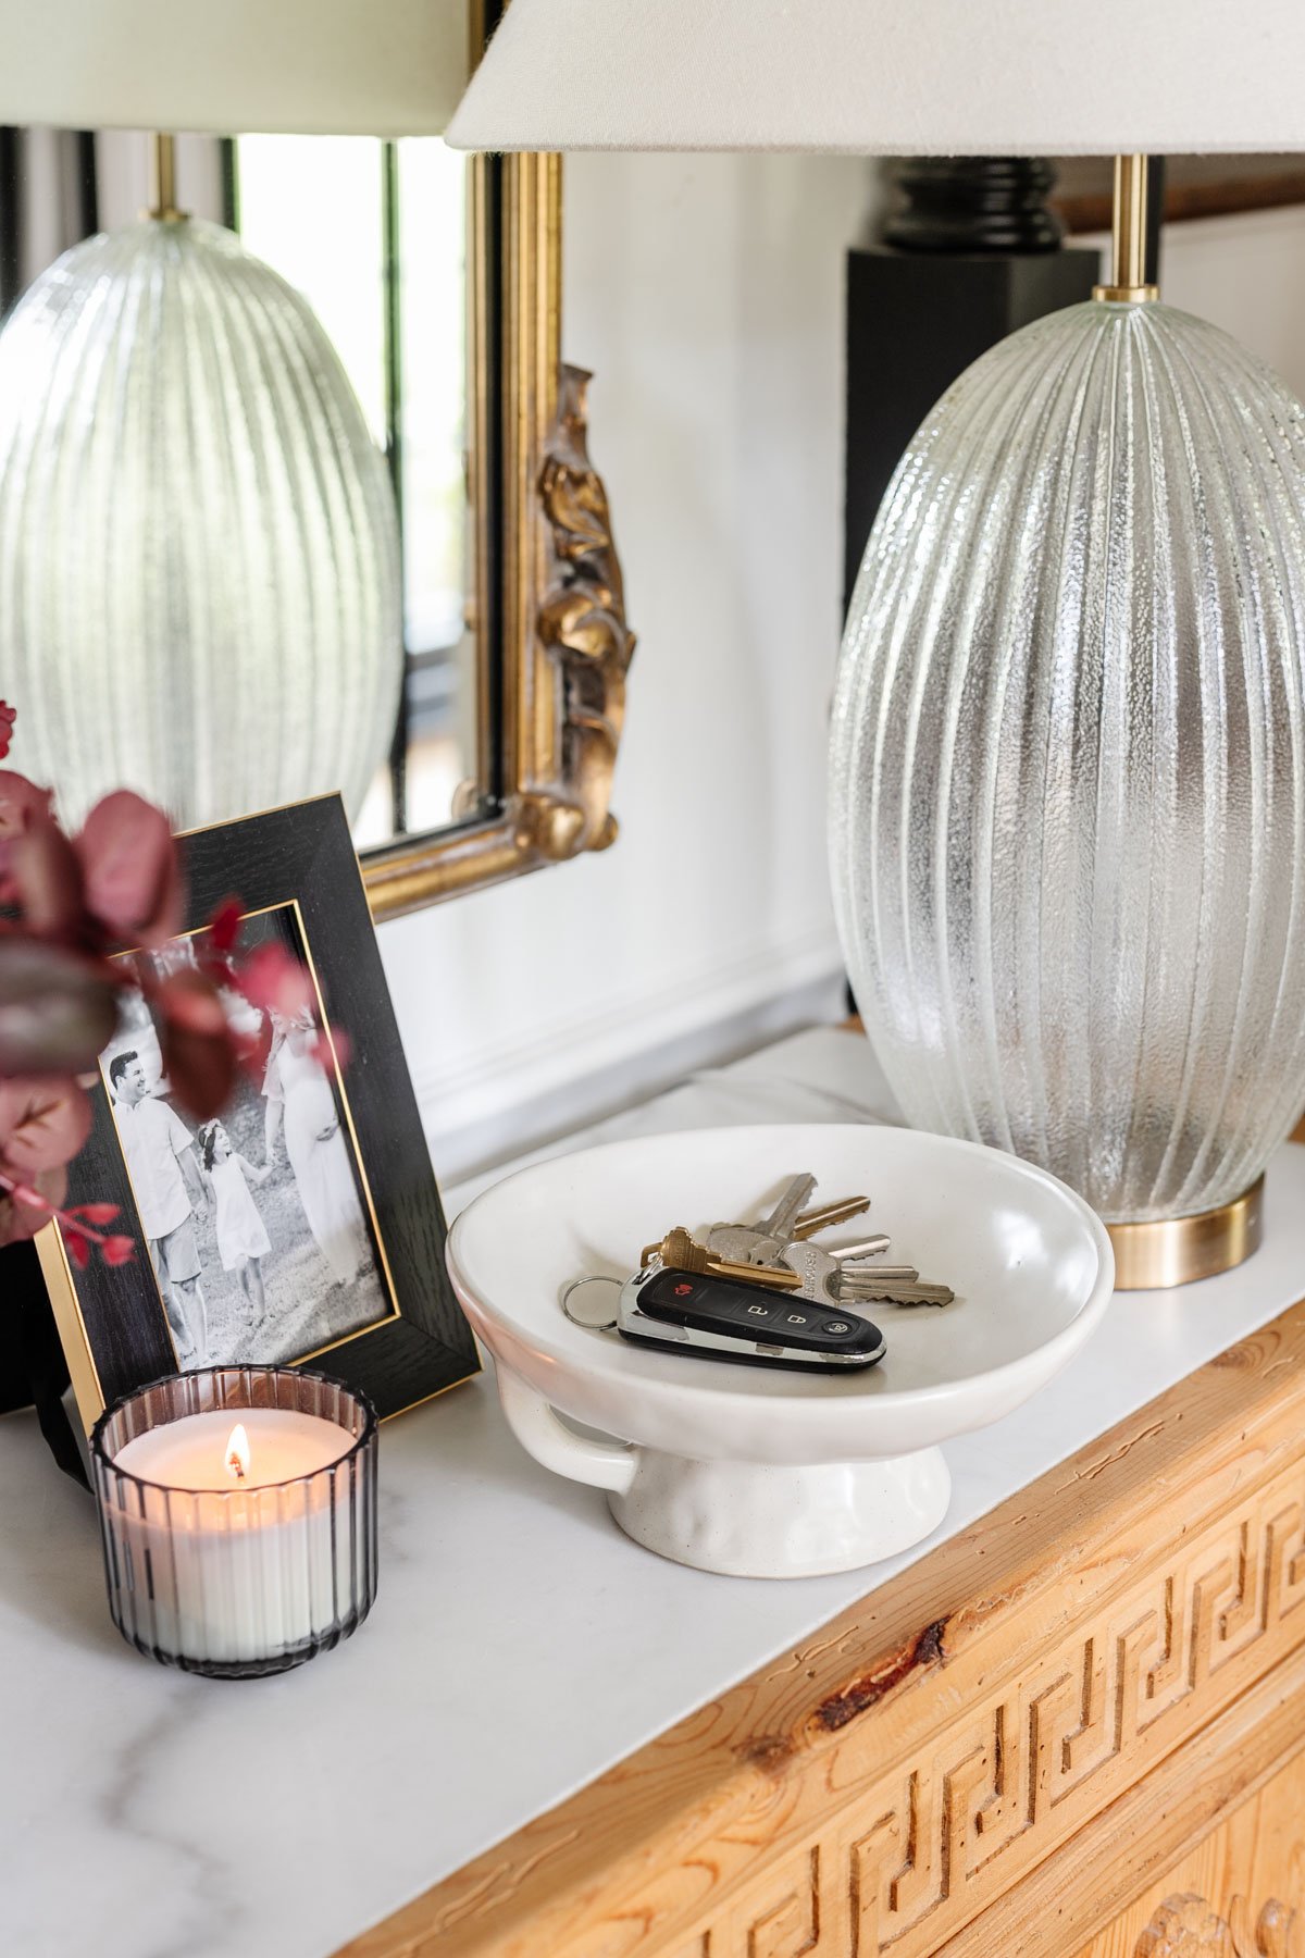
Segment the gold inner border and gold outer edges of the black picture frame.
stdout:
<svg viewBox="0 0 1305 1958">
<path fill-rule="evenodd" d="M 389 1312 L 383 1318 L 380 1318 L 380 1320 L 368 1320 L 366 1326 L 354 1328 L 352 1333 L 340 1333 L 338 1339 L 329 1339 L 325 1345 L 311 1347 L 307 1353 L 297 1353 L 293 1359 L 278 1361 L 278 1365 L 284 1365 L 284 1367 L 307 1367 L 309 1361 L 321 1359 L 323 1353 L 335 1353 L 338 1347 L 348 1345 L 352 1339 L 362 1339 L 366 1333 L 374 1333 L 382 1326 L 389 1326 L 393 1320 L 403 1318 L 403 1306 L 399 1304 L 399 1294 L 395 1290 L 393 1273 L 389 1269 L 389 1253 L 385 1251 L 385 1239 L 382 1235 L 380 1218 L 376 1216 L 376 1202 L 372 1198 L 372 1183 L 368 1179 L 368 1165 L 366 1165 L 366 1159 L 364 1159 L 364 1153 L 362 1153 L 362 1145 L 358 1142 L 358 1130 L 354 1126 L 354 1110 L 350 1106 L 348 1091 L 344 1087 L 344 1075 L 342 1075 L 342 1069 L 338 1065 L 338 1053 L 337 1053 L 337 1046 L 335 1046 L 335 1034 L 331 1030 L 331 1020 L 327 1016 L 327 1004 L 325 1004 L 325 1001 L 321 997 L 321 981 L 317 977 L 317 961 L 313 957 L 313 944 L 309 940 L 307 926 L 303 922 L 303 912 L 299 909 L 299 899 L 297 897 L 284 897 L 284 899 L 278 899 L 278 903 L 274 903 L 274 905 L 258 905 L 256 910 L 243 910 L 241 912 L 241 920 L 245 920 L 245 918 L 264 918 L 272 910 L 292 910 L 293 912 L 295 928 L 299 932 L 299 948 L 303 952 L 303 959 L 307 963 L 309 977 L 313 981 L 313 995 L 317 999 L 317 1016 L 319 1016 L 321 1028 L 323 1028 L 323 1032 L 325 1032 L 325 1036 L 327 1036 L 327 1040 L 331 1044 L 331 1055 L 333 1055 L 333 1059 L 337 1063 L 337 1067 L 335 1067 L 335 1093 L 338 1095 L 340 1108 L 344 1110 L 344 1124 L 348 1128 L 348 1138 L 350 1138 L 350 1143 L 352 1143 L 354 1161 L 358 1165 L 358 1179 L 362 1183 L 362 1194 L 364 1194 L 364 1200 L 366 1200 L 368 1218 L 372 1222 L 372 1241 L 376 1243 L 376 1251 L 378 1251 L 378 1259 L 380 1259 L 380 1279 L 382 1279 L 383 1290 L 385 1290 L 385 1294 L 389 1298 Z M 198 938 L 205 930 L 207 930 L 207 924 L 200 924 L 194 930 L 190 930 L 190 932 L 178 932 L 176 936 L 178 938 Z M 131 957 L 133 954 L 131 952 L 123 952 L 123 954 L 115 954 L 115 956 L 117 957 Z M 100 1077 L 102 1077 L 102 1093 L 104 1093 L 104 1096 L 108 1100 L 110 1087 L 104 1081 L 104 1069 L 100 1069 Z M 110 1122 L 112 1120 L 113 1120 L 113 1110 L 110 1108 Z M 117 1140 L 117 1147 L 119 1147 L 119 1153 L 121 1153 L 121 1138 L 117 1138 L 117 1126 L 113 1126 L 113 1136 Z M 127 1177 L 127 1189 L 131 1190 L 131 1198 L 133 1198 L 133 1204 L 135 1204 L 135 1185 L 131 1181 L 131 1169 L 127 1165 L 125 1155 L 123 1155 L 123 1173 Z M 137 1204 L 137 1228 L 139 1228 L 139 1204 Z M 37 1235 L 35 1235 L 35 1249 L 37 1249 L 37 1257 L 41 1261 L 41 1277 L 45 1279 L 45 1288 L 49 1292 L 49 1302 L 51 1302 L 51 1310 L 55 1314 L 55 1326 L 59 1329 L 59 1339 L 63 1343 L 65 1357 L 68 1361 L 68 1378 L 72 1382 L 72 1394 L 76 1398 L 76 1410 L 78 1410 L 78 1414 L 82 1418 L 82 1425 L 84 1425 L 86 1433 L 90 1433 L 90 1429 L 96 1425 L 96 1422 L 104 1414 L 106 1398 L 104 1398 L 104 1386 L 100 1382 L 100 1371 L 96 1367 L 94 1353 L 92 1353 L 92 1347 L 90 1347 L 90 1333 L 86 1331 L 86 1320 L 82 1318 L 82 1306 L 80 1306 L 80 1300 L 76 1296 L 76 1273 L 72 1271 L 72 1263 L 68 1259 L 68 1251 L 67 1251 L 67 1245 L 63 1241 L 63 1234 L 61 1234 L 61 1230 L 59 1230 L 57 1224 L 51 1222 L 41 1232 L 37 1232 Z M 162 1292 L 158 1290 L 158 1273 L 155 1271 L 155 1261 L 149 1255 L 149 1245 L 145 1249 L 145 1257 L 149 1261 L 151 1277 L 155 1281 L 155 1298 L 158 1302 L 158 1312 L 164 1316 L 164 1322 L 166 1322 L 166 1314 L 164 1314 L 164 1308 L 162 1308 Z M 172 1341 L 172 1329 L 170 1328 L 168 1328 L 168 1341 Z M 472 1373 L 473 1371 L 475 1369 L 472 1369 Z M 468 1375 L 468 1378 L 472 1376 L 472 1373 Z M 460 1384 L 462 1384 L 460 1380 L 452 1380 L 450 1382 L 450 1386 L 460 1386 Z M 434 1400 L 434 1398 L 438 1398 L 438 1394 L 444 1394 L 444 1392 L 448 1392 L 448 1388 L 444 1388 L 444 1386 L 436 1388 L 434 1394 L 425 1394 L 423 1400 Z M 421 1406 L 421 1402 L 411 1402 L 411 1406 Z M 407 1408 L 399 1408 L 395 1412 L 407 1414 Z"/>
</svg>

